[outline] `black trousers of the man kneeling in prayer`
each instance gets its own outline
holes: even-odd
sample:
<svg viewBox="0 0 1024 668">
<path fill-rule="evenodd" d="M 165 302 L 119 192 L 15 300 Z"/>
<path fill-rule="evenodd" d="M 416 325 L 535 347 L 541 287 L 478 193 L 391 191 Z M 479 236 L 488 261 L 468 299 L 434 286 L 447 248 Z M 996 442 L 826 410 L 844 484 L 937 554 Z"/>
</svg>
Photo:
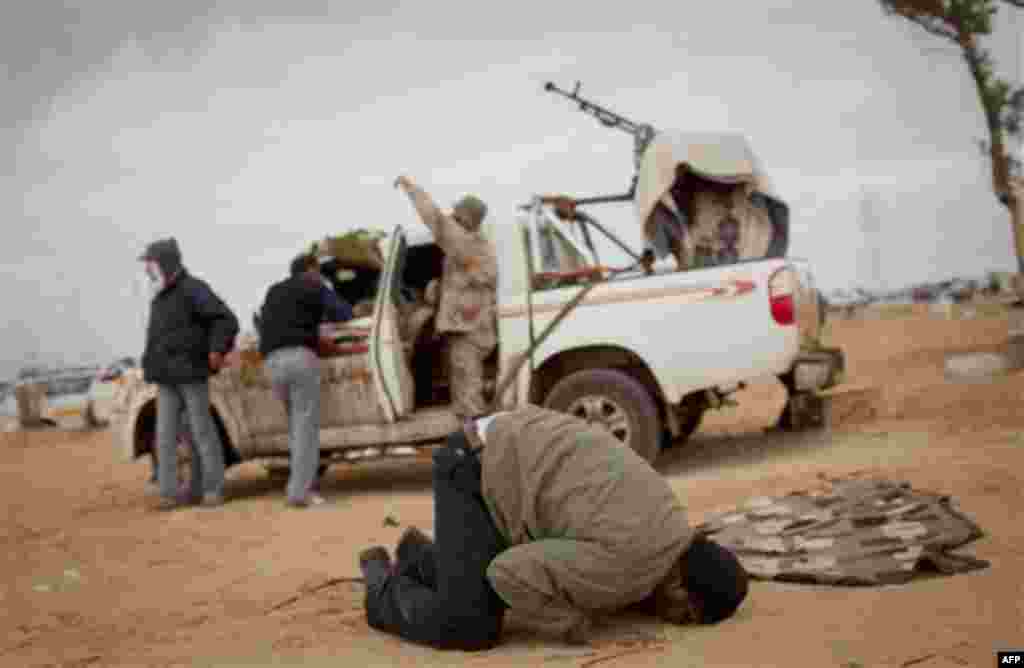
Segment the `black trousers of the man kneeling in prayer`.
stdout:
<svg viewBox="0 0 1024 668">
<path fill-rule="evenodd" d="M 433 455 L 434 543 L 367 589 L 375 629 L 442 650 L 498 644 L 506 606 L 486 578 L 503 549 L 480 494 L 480 462 L 462 432 Z"/>
</svg>

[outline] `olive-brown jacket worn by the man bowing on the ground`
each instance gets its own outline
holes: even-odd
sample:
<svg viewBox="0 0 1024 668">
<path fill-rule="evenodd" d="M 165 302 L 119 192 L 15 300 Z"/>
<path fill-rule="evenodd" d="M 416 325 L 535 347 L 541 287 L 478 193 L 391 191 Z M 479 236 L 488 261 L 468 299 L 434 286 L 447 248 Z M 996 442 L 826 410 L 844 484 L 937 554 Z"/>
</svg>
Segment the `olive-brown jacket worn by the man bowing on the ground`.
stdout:
<svg viewBox="0 0 1024 668">
<path fill-rule="evenodd" d="M 693 530 L 672 488 L 636 453 L 532 406 L 498 414 L 484 429 L 481 495 L 509 546 L 487 578 L 530 626 L 572 633 L 671 575 Z"/>
</svg>

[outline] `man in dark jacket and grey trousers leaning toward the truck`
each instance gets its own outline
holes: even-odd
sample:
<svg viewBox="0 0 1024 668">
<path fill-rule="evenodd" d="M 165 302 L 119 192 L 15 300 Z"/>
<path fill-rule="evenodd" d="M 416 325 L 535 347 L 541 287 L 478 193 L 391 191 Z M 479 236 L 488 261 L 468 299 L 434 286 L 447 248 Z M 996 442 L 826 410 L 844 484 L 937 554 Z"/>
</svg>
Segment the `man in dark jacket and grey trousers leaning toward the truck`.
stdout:
<svg viewBox="0 0 1024 668">
<path fill-rule="evenodd" d="M 267 290 L 261 314 L 260 353 L 288 412 L 288 504 L 321 505 L 324 499 L 313 489 L 319 464 L 318 352 L 330 352 L 333 345 L 321 339 L 319 325 L 350 320 L 352 309 L 324 287 L 316 258 L 300 255 L 292 261 L 291 277 Z"/>
</svg>

